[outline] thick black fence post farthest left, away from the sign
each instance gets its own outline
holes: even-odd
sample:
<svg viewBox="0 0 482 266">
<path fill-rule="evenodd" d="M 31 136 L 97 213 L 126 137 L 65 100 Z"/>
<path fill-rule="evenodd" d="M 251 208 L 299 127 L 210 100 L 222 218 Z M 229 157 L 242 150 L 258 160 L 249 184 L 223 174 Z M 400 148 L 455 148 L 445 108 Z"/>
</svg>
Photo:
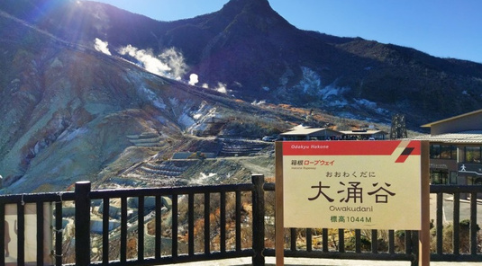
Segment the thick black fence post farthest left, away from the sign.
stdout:
<svg viewBox="0 0 482 266">
<path fill-rule="evenodd" d="M 76 265 L 90 264 L 90 182 L 76 182 Z"/>
</svg>

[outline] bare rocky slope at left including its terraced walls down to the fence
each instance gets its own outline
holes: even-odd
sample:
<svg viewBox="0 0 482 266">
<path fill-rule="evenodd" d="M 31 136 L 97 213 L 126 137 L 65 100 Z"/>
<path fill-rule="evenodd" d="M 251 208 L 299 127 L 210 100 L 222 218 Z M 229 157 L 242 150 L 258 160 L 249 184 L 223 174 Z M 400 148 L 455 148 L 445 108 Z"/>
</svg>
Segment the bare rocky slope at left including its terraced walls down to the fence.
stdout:
<svg viewBox="0 0 482 266">
<path fill-rule="evenodd" d="M 269 158 L 273 146 L 230 138 L 259 138 L 304 121 L 282 107 L 242 102 L 67 44 L 5 13 L 0 23 L 22 32 L 9 32 L 0 46 L 3 193 L 63 191 L 81 180 L 98 188 L 203 184 L 206 176 L 246 182 L 260 168 L 241 156 Z M 176 152 L 193 155 L 170 161 Z M 272 172 L 266 160 L 261 170 Z"/>
</svg>

